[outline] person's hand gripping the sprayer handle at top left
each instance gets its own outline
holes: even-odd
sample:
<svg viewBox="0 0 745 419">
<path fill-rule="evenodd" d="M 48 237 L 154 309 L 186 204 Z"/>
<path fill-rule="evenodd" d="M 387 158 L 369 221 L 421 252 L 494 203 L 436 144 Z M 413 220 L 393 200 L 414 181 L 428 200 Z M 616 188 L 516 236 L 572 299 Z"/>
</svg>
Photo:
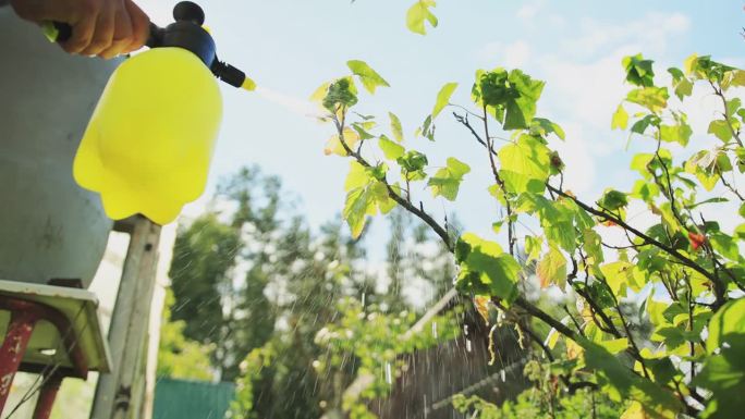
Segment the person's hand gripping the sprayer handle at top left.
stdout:
<svg viewBox="0 0 745 419">
<path fill-rule="evenodd" d="M 1 0 L 0 0 L 1 1 Z M 27 21 L 62 22 L 72 36 L 62 44 L 70 53 L 113 58 L 143 47 L 149 17 L 132 0 L 10 0 Z"/>
</svg>

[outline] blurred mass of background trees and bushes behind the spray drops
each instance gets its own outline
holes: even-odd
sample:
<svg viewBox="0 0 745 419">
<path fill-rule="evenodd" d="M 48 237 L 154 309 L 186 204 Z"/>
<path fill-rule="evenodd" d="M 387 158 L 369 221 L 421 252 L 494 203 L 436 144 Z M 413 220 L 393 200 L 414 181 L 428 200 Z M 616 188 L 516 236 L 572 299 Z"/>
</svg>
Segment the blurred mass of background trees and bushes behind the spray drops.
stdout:
<svg viewBox="0 0 745 419">
<path fill-rule="evenodd" d="M 379 186 L 369 185 L 364 168 L 354 169 L 359 177 L 346 186 L 377 199 L 367 188 Z M 234 380 L 233 418 L 318 418 L 344 409 L 369 417 L 366 404 L 391 384 L 376 378 L 373 389 L 349 399 L 345 389 L 386 365 L 399 374 L 400 348 L 437 342 L 426 329 L 399 344 L 454 274 L 449 250 L 405 211 L 393 214 L 384 269 L 373 275 L 362 237 L 339 221 L 312 231 L 280 181 L 257 168 L 224 180 L 208 208 L 176 238 L 169 304 L 175 320 L 163 325 L 160 372 Z M 457 329 L 452 318 L 436 321 L 441 340 Z M 328 331 L 337 337 L 325 340 Z M 192 348 L 205 349 L 203 358 Z M 205 360 L 213 377 L 199 374 Z M 194 371 L 185 377 L 190 362 Z"/>
</svg>

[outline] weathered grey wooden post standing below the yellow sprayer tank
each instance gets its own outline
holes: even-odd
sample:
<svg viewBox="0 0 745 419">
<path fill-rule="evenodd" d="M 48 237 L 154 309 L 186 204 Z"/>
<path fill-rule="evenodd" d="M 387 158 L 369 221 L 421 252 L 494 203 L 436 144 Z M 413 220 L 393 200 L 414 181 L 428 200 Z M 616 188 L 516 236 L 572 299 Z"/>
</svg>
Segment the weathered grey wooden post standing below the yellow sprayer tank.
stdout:
<svg viewBox="0 0 745 419">
<path fill-rule="evenodd" d="M 137 215 L 114 224 L 130 233 L 130 246 L 109 328 L 112 371 L 98 378 L 91 419 L 136 419 L 133 384 L 143 367 L 145 337 L 156 282 L 160 226 Z"/>
</svg>

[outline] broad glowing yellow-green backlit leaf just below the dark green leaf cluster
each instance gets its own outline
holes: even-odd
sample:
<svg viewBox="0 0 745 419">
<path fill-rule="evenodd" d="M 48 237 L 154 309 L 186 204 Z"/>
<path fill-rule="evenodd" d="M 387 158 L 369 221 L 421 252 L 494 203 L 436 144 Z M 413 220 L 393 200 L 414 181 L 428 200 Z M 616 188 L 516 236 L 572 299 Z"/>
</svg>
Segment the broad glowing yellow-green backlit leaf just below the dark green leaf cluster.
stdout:
<svg viewBox="0 0 745 419">
<path fill-rule="evenodd" d="M 522 135 L 515 144 L 502 147 L 499 152 L 500 176 L 508 192 L 540 194 L 546 189 L 551 151 L 539 139 Z"/>
</svg>

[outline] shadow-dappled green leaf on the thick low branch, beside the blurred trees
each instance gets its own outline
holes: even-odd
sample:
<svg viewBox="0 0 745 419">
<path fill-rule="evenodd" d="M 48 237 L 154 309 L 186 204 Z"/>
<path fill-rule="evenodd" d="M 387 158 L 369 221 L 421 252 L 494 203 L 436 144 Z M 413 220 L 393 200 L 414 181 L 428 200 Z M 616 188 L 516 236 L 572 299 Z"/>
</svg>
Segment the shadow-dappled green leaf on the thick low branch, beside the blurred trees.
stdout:
<svg viewBox="0 0 745 419">
<path fill-rule="evenodd" d="M 455 245 L 460 272 L 455 287 L 461 293 L 496 296 L 505 304 L 517 297 L 517 261 L 493 242 L 466 233 Z"/>
</svg>

